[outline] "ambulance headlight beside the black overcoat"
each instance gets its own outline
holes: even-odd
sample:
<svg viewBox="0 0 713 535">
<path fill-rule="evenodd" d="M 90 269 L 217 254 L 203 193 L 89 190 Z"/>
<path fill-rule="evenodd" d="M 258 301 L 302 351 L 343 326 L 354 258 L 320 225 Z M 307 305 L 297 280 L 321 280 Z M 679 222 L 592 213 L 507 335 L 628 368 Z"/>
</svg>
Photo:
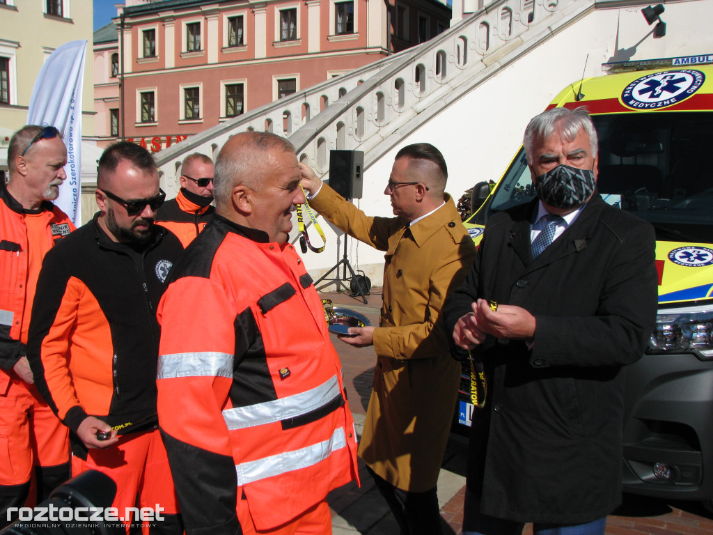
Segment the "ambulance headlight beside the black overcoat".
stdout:
<svg viewBox="0 0 713 535">
<path fill-rule="evenodd" d="M 659 310 L 647 353 L 668 352 L 713 360 L 713 305 Z"/>
</svg>

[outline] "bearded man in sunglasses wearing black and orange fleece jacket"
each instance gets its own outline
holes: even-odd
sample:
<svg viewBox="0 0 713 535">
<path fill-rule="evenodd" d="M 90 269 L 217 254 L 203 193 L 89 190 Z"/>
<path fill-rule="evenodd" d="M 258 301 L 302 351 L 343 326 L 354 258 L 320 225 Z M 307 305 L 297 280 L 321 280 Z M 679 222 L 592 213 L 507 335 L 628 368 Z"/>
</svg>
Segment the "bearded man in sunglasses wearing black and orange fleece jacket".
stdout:
<svg viewBox="0 0 713 535">
<path fill-rule="evenodd" d="M 164 198 L 145 148 L 121 142 L 104 151 L 100 211 L 43 263 L 29 359 L 39 391 L 71 430 L 72 474 L 108 474 L 119 516 L 138 495 L 140 507 L 163 508 L 156 533 L 178 534 L 156 417 L 155 309 L 183 250 L 153 223 Z"/>
</svg>

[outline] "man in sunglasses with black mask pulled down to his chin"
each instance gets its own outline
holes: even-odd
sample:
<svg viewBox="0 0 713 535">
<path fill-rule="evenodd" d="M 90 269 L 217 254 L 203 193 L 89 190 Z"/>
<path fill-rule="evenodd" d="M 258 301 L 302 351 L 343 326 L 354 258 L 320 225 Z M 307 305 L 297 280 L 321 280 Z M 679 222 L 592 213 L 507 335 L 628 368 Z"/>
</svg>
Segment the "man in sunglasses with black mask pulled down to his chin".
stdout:
<svg viewBox="0 0 713 535">
<path fill-rule="evenodd" d="M 180 191 L 158 209 L 156 223 L 178 236 L 183 247 L 195 240 L 215 212 L 213 162 L 205 154 L 186 156 L 181 165 Z"/>
</svg>

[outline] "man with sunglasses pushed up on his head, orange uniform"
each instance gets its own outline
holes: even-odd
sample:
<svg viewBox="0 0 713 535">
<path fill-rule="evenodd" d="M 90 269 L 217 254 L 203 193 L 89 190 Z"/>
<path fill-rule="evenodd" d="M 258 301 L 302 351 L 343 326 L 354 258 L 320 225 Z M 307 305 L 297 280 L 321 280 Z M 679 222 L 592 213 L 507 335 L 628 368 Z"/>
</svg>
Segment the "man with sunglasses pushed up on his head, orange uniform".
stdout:
<svg viewBox="0 0 713 535">
<path fill-rule="evenodd" d="M 35 465 L 37 499 L 69 476 L 67 429 L 41 399 L 26 357 L 32 300 L 44 255 L 74 230 L 50 201 L 66 178 L 67 151 L 53 126 L 24 126 L 0 184 L 0 528 L 22 507 Z"/>
</svg>

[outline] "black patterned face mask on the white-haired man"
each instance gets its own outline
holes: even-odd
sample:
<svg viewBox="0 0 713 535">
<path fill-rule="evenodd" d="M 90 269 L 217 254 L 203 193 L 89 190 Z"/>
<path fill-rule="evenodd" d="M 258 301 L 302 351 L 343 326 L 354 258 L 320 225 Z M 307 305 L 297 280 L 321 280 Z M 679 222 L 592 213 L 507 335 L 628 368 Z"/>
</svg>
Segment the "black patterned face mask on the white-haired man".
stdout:
<svg viewBox="0 0 713 535">
<path fill-rule="evenodd" d="M 574 208 L 594 193 L 594 170 L 558 165 L 535 177 L 535 191 L 545 204 L 555 208 Z"/>
</svg>

